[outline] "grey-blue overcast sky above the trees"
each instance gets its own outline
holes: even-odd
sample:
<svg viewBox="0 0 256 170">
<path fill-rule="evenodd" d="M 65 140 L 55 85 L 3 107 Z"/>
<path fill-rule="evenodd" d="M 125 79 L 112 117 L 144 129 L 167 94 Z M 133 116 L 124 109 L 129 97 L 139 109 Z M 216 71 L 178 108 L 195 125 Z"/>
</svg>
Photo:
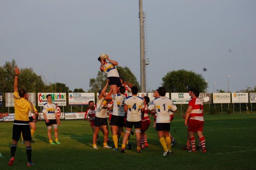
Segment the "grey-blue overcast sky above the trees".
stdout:
<svg viewBox="0 0 256 170">
<path fill-rule="evenodd" d="M 256 0 L 143 0 L 147 89 L 167 72 L 202 74 L 208 92 L 256 86 Z M 0 66 L 89 89 L 104 52 L 140 82 L 139 0 L 0 0 Z M 207 68 L 204 72 L 203 69 Z"/>
</svg>

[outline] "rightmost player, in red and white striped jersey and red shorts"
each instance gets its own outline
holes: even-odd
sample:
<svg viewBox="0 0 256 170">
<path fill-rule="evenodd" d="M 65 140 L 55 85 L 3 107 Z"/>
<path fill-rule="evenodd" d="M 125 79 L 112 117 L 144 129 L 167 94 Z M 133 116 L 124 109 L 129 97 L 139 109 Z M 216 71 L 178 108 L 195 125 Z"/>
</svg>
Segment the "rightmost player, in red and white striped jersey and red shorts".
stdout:
<svg viewBox="0 0 256 170">
<path fill-rule="evenodd" d="M 198 98 L 198 89 L 193 89 L 192 100 L 189 101 L 189 107 L 186 111 L 185 126 L 188 126 L 188 135 L 191 145 L 189 152 L 196 152 L 195 150 L 195 133 L 197 133 L 201 144 L 201 152 L 206 153 L 205 138 L 203 135 L 204 127 L 204 106 L 202 101 Z M 189 121 L 189 124 L 188 124 Z"/>
</svg>

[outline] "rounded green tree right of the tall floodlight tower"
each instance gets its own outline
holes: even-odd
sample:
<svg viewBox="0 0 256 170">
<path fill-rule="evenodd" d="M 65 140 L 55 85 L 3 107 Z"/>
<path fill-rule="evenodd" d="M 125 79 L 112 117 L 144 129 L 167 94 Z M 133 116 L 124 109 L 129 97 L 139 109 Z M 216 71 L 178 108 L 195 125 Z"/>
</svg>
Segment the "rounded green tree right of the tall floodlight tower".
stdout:
<svg viewBox="0 0 256 170">
<path fill-rule="evenodd" d="M 199 92 L 205 92 L 208 87 L 201 74 L 185 69 L 167 72 L 162 81 L 162 86 L 166 87 L 168 92 L 188 92 L 189 88 L 197 88 Z"/>
</svg>

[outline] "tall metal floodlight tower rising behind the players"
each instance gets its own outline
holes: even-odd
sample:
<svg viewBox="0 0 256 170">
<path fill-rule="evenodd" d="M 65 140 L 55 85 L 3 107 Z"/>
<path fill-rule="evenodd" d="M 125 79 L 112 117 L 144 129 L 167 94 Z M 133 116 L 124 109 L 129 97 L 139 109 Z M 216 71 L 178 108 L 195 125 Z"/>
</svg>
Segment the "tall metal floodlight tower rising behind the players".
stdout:
<svg viewBox="0 0 256 170">
<path fill-rule="evenodd" d="M 146 92 L 145 71 L 145 44 L 144 44 L 144 18 L 142 0 L 139 0 L 140 12 L 140 92 Z"/>
</svg>

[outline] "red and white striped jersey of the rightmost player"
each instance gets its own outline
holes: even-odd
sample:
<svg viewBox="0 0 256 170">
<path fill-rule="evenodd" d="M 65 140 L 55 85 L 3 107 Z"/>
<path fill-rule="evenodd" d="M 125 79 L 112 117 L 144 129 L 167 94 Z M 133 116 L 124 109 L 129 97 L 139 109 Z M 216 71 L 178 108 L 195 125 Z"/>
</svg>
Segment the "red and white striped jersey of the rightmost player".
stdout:
<svg viewBox="0 0 256 170">
<path fill-rule="evenodd" d="M 199 98 L 193 98 L 191 101 L 189 101 L 189 106 L 192 106 L 189 119 L 204 121 L 203 102 Z"/>
</svg>

